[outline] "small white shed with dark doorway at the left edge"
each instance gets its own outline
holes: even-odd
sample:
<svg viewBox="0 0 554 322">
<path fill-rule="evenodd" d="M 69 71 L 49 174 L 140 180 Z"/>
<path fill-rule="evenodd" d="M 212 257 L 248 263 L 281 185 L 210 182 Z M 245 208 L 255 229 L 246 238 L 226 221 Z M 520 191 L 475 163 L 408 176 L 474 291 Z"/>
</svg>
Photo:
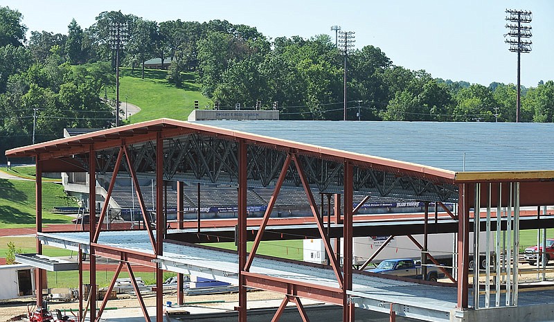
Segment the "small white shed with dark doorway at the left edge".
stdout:
<svg viewBox="0 0 554 322">
<path fill-rule="evenodd" d="M 0 265 L 0 300 L 35 294 L 35 267 L 25 264 Z"/>
</svg>

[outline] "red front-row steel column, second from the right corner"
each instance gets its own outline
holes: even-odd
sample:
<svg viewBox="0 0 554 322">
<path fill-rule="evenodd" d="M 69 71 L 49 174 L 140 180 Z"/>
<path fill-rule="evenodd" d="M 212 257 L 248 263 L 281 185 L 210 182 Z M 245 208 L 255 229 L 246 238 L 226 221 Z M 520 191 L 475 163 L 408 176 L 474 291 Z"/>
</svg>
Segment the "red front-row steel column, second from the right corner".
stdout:
<svg viewBox="0 0 554 322">
<path fill-rule="evenodd" d="M 354 304 L 349 301 L 347 291 L 352 290 L 352 199 L 354 193 L 352 164 L 344 163 L 344 261 L 343 261 L 343 322 L 354 320 Z"/>
</svg>

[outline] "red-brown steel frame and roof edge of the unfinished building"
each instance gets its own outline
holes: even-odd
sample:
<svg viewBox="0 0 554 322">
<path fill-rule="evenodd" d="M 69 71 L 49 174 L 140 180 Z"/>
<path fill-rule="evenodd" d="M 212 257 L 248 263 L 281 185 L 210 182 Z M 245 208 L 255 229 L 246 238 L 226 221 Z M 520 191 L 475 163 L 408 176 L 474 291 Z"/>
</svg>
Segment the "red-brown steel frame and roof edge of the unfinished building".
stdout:
<svg viewBox="0 0 554 322">
<path fill-rule="evenodd" d="M 244 132 L 235 132 L 218 127 L 186 123 L 176 120 L 154 120 L 136 125 L 127 125 L 116 129 L 107 129 L 91 134 L 82 134 L 73 138 L 39 143 L 28 147 L 8 150 L 10 158 L 35 156 L 37 161 L 37 233 L 42 232 L 42 172 L 88 172 L 89 182 L 96 182 L 97 174 L 109 174 L 112 179 L 108 188 L 108 198 L 113 190 L 115 178 L 125 173 L 132 177 L 137 187 L 137 197 L 143 220 L 148 231 L 151 255 L 129 249 L 109 247 L 98 242 L 102 229 L 102 220 L 106 214 L 107 203 L 100 211 L 100 220 L 96 223 L 95 207 L 90 208 L 89 249 L 91 255 L 90 269 L 96 269 L 96 257 L 102 256 L 120 261 L 118 271 L 126 266 L 132 274 L 129 262 L 155 267 L 157 273 L 157 321 L 163 321 L 162 309 L 162 271 L 159 258 L 163 256 L 164 229 L 166 227 L 163 213 L 163 183 L 178 181 L 179 198 L 182 198 L 183 181 L 201 184 L 233 184 L 238 187 L 238 282 L 239 321 L 247 321 L 247 287 L 267 289 L 283 294 L 283 303 L 277 310 L 274 321 L 277 321 L 285 305 L 292 301 L 298 311 L 307 320 L 300 298 L 316 300 L 343 306 L 343 321 L 354 321 L 354 303 L 352 297 L 352 265 L 339 265 L 339 254 L 334 252 L 330 241 L 329 226 L 323 224 L 322 211 L 314 201 L 312 187 L 335 196 L 334 221 L 341 223 L 341 232 L 334 229 L 337 237 L 343 238 L 343 258 L 345 263 L 352 262 L 352 237 L 354 233 L 354 213 L 357 211 L 352 196 L 355 192 L 367 195 L 391 196 L 397 198 L 418 199 L 426 202 L 458 202 L 458 214 L 452 215 L 457 222 L 458 232 L 458 267 L 456 278 L 458 303 L 460 310 L 469 306 L 469 253 L 470 231 L 479 231 L 480 213 L 472 208 L 487 205 L 488 208 L 509 207 L 508 219 L 505 220 L 507 231 L 519 229 L 519 207 L 523 205 L 554 204 L 553 177 L 551 172 L 503 172 L 503 173 L 467 173 L 452 172 L 430 168 L 413 163 L 380 159 L 342 152 L 302 143 L 280 141 L 276 138 L 256 136 Z M 156 181 L 156 223 L 153 225 L 146 215 L 146 208 L 141 197 L 139 178 L 149 177 Z M 496 185 L 481 191 L 481 184 Z M 247 233 L 247 188 L 251 186 L 273 186 L 274 193 L 262 218 L 254 245 L 250 253 L 246 243 Z M 502 190 L 501 187 L 510 186 Z M 491 186 L 492 187 L 492 186 Z M 514 188 L 515 187 L 515 188 Z M 264 231 L 267 228 L 272 208 L 281 188 L 301 188 L 310 202 L 314 229 L 318 238 L 324 242 L 325 253 L 334 272 L 339 287 L 327 287 L 298 280 L 287 280 L 275 276 L 250 271 L 256 250 Z M 340 203 L 340 195 L 343 204 Z M 511 196 L 511 197 L 510 197 Z M 181 199 L 182 200 L 182 199 Z M 509 201 L 508 201 L 509 200 Z M 89 187 L 89 204 L 96 205 L 96 187 Z M 179 207 L 182 207 L 182 202 Z M 499 212 L 500 213 L 500 212 Z M 179 228 L 183 227 L 182 208 L 178 212 Z M 512 217 L 513 216 L 513 217 Z M 497 215 L 497 219 L 500 218 Z M 470 220 L 475 223 L 470 225 Z M 486 218 L 486 229 L 491 229 L 492 219 Z M 497 227 L 501 226 L 497 221 Z M 511 225 L 514 225 L 512 228 Z M 427 211 L 425 213 L 427 227 Z M 338 227 L 337 227 L 338 228 Z M 199 226 L 200 229 L 200 226 Z M 404 233 L 406 233 L 404 231 Z M 409 233 L 407 233 L 409 234 Z M 427 234 L 427 230 L 426 230 Z M 426 245 L 419 245 L 425 251 Z M 514 240 L 514 248 L 517 241 Z M 476 244 L 474 244 L 476 247 Z M 479 249 L 477 249 L 479 251 Z M 42 253 L 42 244 L 37 240 L 37 253 Z M 434 260 L 428 256 L 429 260 Z M 517 271 L 517 266 L 514 267 Z M 42 289 L 42 269 L 37 269 L 37 290 Z M 514 273 L 515 274 L 515 273 Z M 102 310 L 96 315 L 95 275 L 91 274 L 90 284 L 90 319 L 98 321 Z M 116 274 L 117 276 L 117 274 Z M 182 274 L 179 274 L 179 285 Z M 82 280 L 82 276 L 80 277 Z M 514 275 L 510 301 L 506 305 L 517 305 L 517 274 Z M 115 281 L 115 278 L 114 278 Z M 113 287 L 113 283 L 110 287 Z M 479 285 L 477 289 L 479 289 Z M 179 291 L 179 303 L 183 294 Z M 479 303 L 479 292 L 474 294 Z M 105 299 L 107 301 L 107 297 Z M 105 301 L 100 309 L 105 307 Z M 139 296 L 146 321 L 150 321 L 143 301 Z M 42 303 L 42 294 L 37 292 L 37 303 Z M 391 304 L 391 316 L 393 308 Z M 479 304 L 474 304 L 474 309 Z M 80 297 L 82 311 L 82 296 Z"/>
</svg>

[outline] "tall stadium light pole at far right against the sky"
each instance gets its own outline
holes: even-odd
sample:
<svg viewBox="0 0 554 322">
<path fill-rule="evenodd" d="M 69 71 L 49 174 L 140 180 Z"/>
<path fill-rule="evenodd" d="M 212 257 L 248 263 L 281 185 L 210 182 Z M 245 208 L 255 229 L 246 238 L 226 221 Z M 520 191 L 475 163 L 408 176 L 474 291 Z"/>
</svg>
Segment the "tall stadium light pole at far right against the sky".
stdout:
<svg viewBox="0 0 554 322">
<path fill-rule="evenodd" d="M 521 118 L 521 53 L 530 53 L 531 44 L 530 41 L 531 26 L 529 24 L 533 20 L 533 16 L 530 11 L 526 10 L 510 10 L 506 9 L 506 20 L 514 24 L 506 24 L 508 33 L 504 37 L 509 36 L 506 39 L 506 44 L 510 44 L 510 51 L 517 53 L 517 106 L 515 112 L 515 121 L 519 122 Z"/>
</svg>

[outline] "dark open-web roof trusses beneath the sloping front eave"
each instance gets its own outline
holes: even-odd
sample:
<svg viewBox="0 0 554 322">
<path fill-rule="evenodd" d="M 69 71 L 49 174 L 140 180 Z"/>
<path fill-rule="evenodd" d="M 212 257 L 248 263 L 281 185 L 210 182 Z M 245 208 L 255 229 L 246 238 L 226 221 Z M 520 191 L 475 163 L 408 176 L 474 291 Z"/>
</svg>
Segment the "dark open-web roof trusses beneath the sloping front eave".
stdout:
<svg viewBox="0 0 554 322">
<path fill-rule="evenodd" d="M 163 179 L 201 184 L 236 185 L 238 181 L 238 143 L 225 138 L 202 134 L 188 134 L 166 138 L 163 143 Z M 97 169 L 102 175 L 113 171 L 118 148 L 96 152 Z M 287 151 L 277 147 L 248 145 L 247 179 L 249 187 L 271 187 L 276 183 Z M 140 178 L 154 179 L 156 148 L 153 141 L 128 146 L 134 171 Z M 87 168 L 86 156 L 82 158 Z M 310 186 L 325 193 L 343 190 L 343 163 L 322 159 L 321 156 L 298 153 Z M 430 202 L 457 202 L 458 188 L 453 184 L 438 183 L 424 177 L 409 177 L 376 168 L 355 165 L 353 189 L 357 195 L 393 197 Z M 129 174 L 127 163 L 119 175 Z M 302 189 L 298 171 L 291 165 L 283 188 Z"/>
</svg>

